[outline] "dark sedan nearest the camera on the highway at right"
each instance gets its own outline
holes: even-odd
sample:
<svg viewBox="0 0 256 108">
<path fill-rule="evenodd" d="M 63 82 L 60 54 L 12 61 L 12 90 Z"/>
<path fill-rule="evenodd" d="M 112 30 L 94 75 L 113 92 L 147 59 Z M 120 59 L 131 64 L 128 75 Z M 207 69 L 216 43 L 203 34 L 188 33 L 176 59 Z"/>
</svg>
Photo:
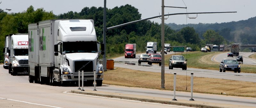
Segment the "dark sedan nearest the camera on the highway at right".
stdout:
<svg viewBox="0 0 256 108">
<path fill-rule="evenodd" d="M 220 72 L 226 72 L 226 70 L 240 73 L 240 62 L 238 62 L 236 59 L 223 59 L 220 62 Z"/>
</svg>

